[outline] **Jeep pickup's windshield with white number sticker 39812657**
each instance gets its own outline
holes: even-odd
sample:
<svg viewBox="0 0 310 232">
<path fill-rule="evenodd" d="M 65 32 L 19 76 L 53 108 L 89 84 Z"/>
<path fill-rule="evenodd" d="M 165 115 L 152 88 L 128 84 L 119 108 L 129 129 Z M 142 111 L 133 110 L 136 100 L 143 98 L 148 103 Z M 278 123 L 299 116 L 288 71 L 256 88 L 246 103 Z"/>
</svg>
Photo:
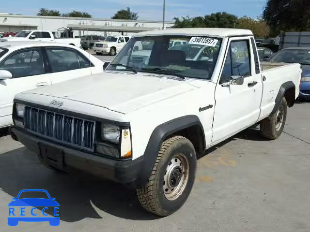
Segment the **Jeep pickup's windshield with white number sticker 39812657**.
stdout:
<svg viewBox="0 0 310 232">
<path fill-rule="evenodd" d="M 171 46 L 171 41 L 184 41 Z M 132 38 L 107 70 L 159 73 L 211 79 L 222 40 L 198 36 Z"/>
</svg>

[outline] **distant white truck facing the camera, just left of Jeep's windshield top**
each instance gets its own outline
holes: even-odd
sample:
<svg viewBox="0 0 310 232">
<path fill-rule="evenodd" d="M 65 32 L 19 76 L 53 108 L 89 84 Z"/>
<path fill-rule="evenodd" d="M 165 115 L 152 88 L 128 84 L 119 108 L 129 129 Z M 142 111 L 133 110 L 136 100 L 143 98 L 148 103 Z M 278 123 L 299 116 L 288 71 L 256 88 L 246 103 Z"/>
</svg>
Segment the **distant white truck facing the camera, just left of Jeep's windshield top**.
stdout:
<svg viewBox="0 0 310 232">
<path fill-rule="evenodd" d="M 93 51 L 97 55 L 109 53 L 110 56 L 115 56 L 129 40 L 130 36 L 108 36 L 105 41 L 94 43 Z"/>
</svg>

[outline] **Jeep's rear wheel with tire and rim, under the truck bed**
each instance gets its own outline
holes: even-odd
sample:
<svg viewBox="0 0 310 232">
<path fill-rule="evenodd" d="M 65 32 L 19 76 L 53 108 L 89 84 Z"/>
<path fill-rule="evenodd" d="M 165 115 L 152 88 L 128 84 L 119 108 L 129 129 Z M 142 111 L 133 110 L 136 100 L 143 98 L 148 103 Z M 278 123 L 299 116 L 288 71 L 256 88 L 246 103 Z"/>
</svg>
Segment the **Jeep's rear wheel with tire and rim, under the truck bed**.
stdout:
<svg viewBox="0 0 310 232">
<path fill-rule="evenodd" d="M 283 97 L 276 113 L 261 121 L 261 135 L 271 140 L 279 138 L 285 126 L 286 114 L 287 102 Z"/>
</svg>

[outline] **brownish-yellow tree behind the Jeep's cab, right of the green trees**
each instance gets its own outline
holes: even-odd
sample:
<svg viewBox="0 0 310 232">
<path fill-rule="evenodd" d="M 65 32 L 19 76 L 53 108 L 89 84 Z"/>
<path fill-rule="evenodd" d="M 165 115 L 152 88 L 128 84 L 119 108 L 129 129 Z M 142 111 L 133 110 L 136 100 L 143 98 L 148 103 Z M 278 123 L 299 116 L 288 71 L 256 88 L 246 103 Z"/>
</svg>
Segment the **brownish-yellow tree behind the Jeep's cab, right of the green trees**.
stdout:
<svg viewBox="0 0 310 232">
<path fill-rule="evenodd" d="M 243 16 L 238 19 L 237 28 L 249 29 L 255 37 L 267 38 L 269 35 L 269 27 L 263 19 L 251 19 L 248 16 Z"/>
</svg>

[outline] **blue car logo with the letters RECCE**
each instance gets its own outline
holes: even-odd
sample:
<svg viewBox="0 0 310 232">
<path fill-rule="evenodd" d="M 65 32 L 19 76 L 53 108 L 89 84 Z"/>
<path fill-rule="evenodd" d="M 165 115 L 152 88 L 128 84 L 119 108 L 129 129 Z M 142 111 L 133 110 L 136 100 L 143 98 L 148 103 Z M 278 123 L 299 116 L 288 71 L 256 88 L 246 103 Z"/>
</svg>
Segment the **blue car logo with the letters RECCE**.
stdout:
<svg viewBox="0 0 310 232">
<path fill-rule="evenodd" d="M 21 198 L 23 192 L 45 192 L 47 198 Z M 9 206 L 8 225 L 17 226 L 19 221 L 48 221 L 51 226 L 59 226 L 60 217 L 58 217 L 59 203 L 55 198 L 51 198 L 44 189 L 24 189 L 21 190 L 16 198 L 12 198 Z M 36 207 L 44 207 L 42 210 Z M 45 211 L 53 208 L 54 217 L 50 217 Z M 42 217 L 40 217 L 42 215 Z M 31 217 L 27 217 L 31 216 Z"/>
</svg>

